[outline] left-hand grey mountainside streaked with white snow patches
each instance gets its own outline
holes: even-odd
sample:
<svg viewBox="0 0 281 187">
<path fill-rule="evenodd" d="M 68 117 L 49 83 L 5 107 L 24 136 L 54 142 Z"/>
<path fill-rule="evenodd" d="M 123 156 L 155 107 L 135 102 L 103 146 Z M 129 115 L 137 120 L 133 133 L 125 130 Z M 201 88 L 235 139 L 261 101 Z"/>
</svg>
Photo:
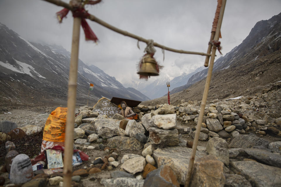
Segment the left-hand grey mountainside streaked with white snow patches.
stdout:
<svg viewBox="0 0 281 187">
<path fill-rule="evenodd" d="M 70 53 L 60 46 L 29 42 L 0 23 L 0 102 L 66 103 Z M 126 89 L 98 67 L 78 63 L 77 102 L 94 104 L 105 96 L 144 101 L 135 89 Z"/>
</svg>

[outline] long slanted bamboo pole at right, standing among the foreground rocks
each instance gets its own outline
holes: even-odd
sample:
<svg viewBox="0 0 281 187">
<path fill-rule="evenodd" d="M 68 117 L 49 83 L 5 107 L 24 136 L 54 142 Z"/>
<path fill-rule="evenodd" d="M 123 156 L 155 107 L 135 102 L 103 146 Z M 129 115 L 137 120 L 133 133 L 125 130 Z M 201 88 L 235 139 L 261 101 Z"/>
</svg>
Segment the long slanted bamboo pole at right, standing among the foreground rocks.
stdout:
<svg viewBox="0 0 281 187">
<path fill-rule="evenodd" d="M 217 23 L 217 29 L 216 29 L 215 37 L 214 37 L 215 40 L 218 40 L 219 37 L 220 37 L 220 27 L 222 25 L 222 18 L 223 18 L 223 14 L 224 14 L 224 11 L 225 11 L 225 4 L 226 4 L 226 0 L 222 0 L 222 7 L 221 7 L 221 10 L 220 10 L 220 16 L 219 16 L 219 20 L 218 20 L 218 23 Z M 194 159 L 195 159 L 195 153 L 196 153 L 196 149 L 197 149 L 197 143 L 198 143 L 198 139 L 199 139 L 201 123 L 202 123 L 202 119 L 203 119 L 203 114 L 204 114 L 206 101 L 207 101 L 207 97 L 208 97 L 208 91 L 209 91 L 209 87 L 210 87 L 210 81 L 211 81 L 211 77 L 212 77 L 212 71 L 213 71 L 216 49 L 217 49 L 217 47 L 215 45 L 213 45 L 212 53 L 211 53 L 212 55 L 211 55 L 211 59 L 210 59 L 210 66 L 208 68 L 208 75 L 207 75 L 207 78 L 206 78 L 206 83 L 205 83 L 203 98 L 202 98 L 202 102 L 201 102 L 199 118 L 198 118 L 198 122 L 197 122 L 197 126 L 196 126 L 196 133 L 195 133 L 193 146 L 192 146 L 192 153 L 191 153 L 191 157 L 190 157 L 189 165 L 188 165 L 188 170 L 187 170 L 187 176 L 186 176 L 187 178 L 186 178 L 186 183 L 185 183 L 186 187 L 189 187 L 189 183 L 190 183 L 190 179 L 191 179 L 191 173 L 192 173 L 193 163 L 194 163 Z"/>
</svg>

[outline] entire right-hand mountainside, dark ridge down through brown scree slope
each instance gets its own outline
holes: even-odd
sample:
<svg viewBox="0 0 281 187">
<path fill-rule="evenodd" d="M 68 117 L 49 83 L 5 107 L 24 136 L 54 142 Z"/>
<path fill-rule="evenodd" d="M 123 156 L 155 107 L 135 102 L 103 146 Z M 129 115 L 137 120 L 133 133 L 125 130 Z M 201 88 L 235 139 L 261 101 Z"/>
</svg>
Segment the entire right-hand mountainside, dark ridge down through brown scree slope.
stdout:
<svg viewBox="0 0 281 187">
<path fill-rule="evenodd" d="M 253 96 L 263 89 L 280 94 L 281 89 L 281 13 L 256 23 L 244 41 L 214 64 L 208 101 L 237 96 Z M 182 99 L 201 101 L 207 69 L 194 74 L 177 93 L 171 104 Z M 199 80 L 199 81 L 198 81 Z M 276 101 L 281 102 L 281 101 Z M 167 103 L 167 96 L 142 104 Z M 275 103 L 268 103 L 275 105 Z"/>
</svg>

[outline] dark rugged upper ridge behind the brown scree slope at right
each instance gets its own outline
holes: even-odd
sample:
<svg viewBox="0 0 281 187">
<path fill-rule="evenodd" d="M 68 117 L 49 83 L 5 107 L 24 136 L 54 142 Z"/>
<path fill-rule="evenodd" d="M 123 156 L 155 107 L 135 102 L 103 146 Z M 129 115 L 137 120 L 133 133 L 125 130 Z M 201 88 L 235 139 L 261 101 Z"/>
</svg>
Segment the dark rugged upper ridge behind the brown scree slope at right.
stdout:
<svg viewBox="0 0 281 187">
<path fill-rule="evenodd" d="M 243 42 L 234 47 L 225 56 L 218 58 L 213 67 L 213 72 L 242 66 L 251 63 L 280 49 L 280 22 L 281 13 L 269 20 L 262 20 L 256 23 L 249 35 Z M 242 60 L 243 59 L 243 60 Z M 208 69 L 202 70 L 190 77 L 186 85 L 175 88 L 171 93 L 187 89 L 192 84 L 207 76 Z"/>
</svg>

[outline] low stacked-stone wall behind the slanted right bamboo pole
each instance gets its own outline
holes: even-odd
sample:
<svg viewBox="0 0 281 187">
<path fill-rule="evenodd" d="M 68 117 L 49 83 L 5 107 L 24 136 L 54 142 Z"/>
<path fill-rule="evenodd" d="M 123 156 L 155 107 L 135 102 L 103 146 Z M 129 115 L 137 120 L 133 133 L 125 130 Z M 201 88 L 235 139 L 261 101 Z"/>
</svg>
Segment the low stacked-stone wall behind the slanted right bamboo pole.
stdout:
<svg viewBox="0 0 281 187">
<path fill-rule="evenodd" d="M 255 132 L 260 136 L 266 134 L 274 134 L 281 137 L 281 131 L 275 127 L 269 127 L 270 124 L 276 122 L 279 125 L 280 118 L 272 119 L 265 115 L 264 120 L 257 119 L 253 115 L 243 115 L 241 111 L 245 112 L 245 108 L 250 107 L 248 104 L 242 103 L 237 108 L 231 108 L 225 104 L 216 105 L 211 103 L 205 107 L 204 116 L 201 124 L 199 139 L 204 141 L 211 137 L 221 137 L 228 141 L 239 136 L 239 134 L 247 134 Z M 197 124 L 199 112 L 192 105 L 189 107 L 176 107 L 177 118 L 186 123 L 195 122 Z M 196 128 L 196 127 L 195 127 Z M 186 133 L 192 132 L 194 138 L 196 129 L 185 129 Z"/>
</svg>

